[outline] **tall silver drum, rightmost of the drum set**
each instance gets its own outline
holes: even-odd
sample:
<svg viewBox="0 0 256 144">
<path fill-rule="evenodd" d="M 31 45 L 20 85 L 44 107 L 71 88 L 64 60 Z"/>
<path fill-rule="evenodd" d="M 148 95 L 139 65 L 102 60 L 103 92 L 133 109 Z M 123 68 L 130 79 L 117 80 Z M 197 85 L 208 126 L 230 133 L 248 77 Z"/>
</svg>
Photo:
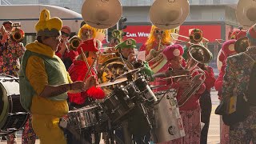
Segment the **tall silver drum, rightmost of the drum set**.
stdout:
<svg viewBox="0 0 256 144">
<path fill-rule="evenodd" d="M 185 136 L 175 91 L 156 93 L 159 103 L 154 106 L 154 142 L 168 142 Z"/>
</svg>

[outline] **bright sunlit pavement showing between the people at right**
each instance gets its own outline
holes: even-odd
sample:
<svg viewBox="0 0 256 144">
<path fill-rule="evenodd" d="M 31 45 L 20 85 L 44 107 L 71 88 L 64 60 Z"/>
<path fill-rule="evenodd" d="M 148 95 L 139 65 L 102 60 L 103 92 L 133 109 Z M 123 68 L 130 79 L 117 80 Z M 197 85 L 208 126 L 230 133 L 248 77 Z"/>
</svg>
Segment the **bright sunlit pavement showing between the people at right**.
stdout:
<svg viewBox="0 0 256 144">
<path fill-rule="evenodd" d="M 214 114 L 214 110 L 218 106 L 218 95 L 217 91 L 212 90 L 211 99 L 213 103 L 213 109 L 210 116 L 210 130 L 208 134 L 208 143 L 209 144 L 218 144 L 220 142 L 220 125 L 219 125 L 219 116 Z M 18 136 L 18 144 L 21 144 L 21 138 Z M 101 142 L 103 143 L 103 142 Z M 6 142 L 0 142 L 0 144 L 6 144 Z M 37 140 L 36 144 L 39 144 Z"/>
</svg>

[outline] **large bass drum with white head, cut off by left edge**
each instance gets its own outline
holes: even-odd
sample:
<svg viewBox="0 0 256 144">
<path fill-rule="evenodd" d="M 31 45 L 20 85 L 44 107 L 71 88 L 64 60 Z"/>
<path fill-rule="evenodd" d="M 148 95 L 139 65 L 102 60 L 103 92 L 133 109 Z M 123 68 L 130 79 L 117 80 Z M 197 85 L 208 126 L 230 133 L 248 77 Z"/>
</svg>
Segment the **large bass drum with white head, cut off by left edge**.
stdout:
<svg viewBox="0 0 256 144">
<path fill-rule="evenodd" d="M 28 117 L 20 103 L 18 78 L 0 74 L 0 135 L 20 130 Z"/>
</svg>

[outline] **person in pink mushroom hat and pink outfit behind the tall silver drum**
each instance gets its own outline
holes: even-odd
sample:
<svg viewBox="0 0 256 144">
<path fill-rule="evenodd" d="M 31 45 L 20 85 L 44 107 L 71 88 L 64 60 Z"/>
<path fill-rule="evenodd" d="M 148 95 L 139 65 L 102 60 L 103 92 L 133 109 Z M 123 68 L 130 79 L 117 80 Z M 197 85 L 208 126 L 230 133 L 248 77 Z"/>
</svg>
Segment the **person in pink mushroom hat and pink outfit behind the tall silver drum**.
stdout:
<svg viewBox="0 0 256 144">
<path fill-rule="evenodd" d="M 175 44 L 167 46 L 162 53 L 167 58 L 169 62 L 170 69 L 172 70 L 182 70 L 186 66 L 186 62 L 182 58 L 184 50 L 181 45 Z M 198 72 L 192 74 L 194 77 Z M 198 82 L 202 82 L 201 79 Z M 174 79 L 171 87 L 178 90 L 177 100 L 181 98 L 183 91 L 190 86 L 190 79 L 185 79 L 178 81 Z M 175 139 L 171 142 L 166 143 L 200 143 L 200 133 L 201 133 L 201 121 L 200 121 L 200 106 L 199 106 L 199 96 L 204 92 L 206 86 L 204 83 L 200 86 L 198 91 L 192 95 L 189 100 L 179 107 L 180 114 L 182 115 L 182 123 L 185 129 L 186 136 L 183 138 Z"/>
</svg>

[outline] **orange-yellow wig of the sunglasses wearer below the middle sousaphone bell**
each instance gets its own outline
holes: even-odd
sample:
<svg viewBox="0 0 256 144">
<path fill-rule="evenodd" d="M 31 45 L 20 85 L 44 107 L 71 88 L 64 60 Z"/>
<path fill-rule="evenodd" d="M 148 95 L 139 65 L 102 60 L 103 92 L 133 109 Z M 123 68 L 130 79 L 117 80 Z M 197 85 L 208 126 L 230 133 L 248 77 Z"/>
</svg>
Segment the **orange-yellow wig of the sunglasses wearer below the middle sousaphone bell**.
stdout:
<svg viewBox="0 0 256 144">
<path fill-rule="evenodd" d="M 150 35 L 146 41 L 146 50 L 149 51 L 152 49 L 153 42 L 156 41 L 157 38 L 154 37 L 154 30 L 156 29 L 156 26 L 151 26 Z M 161 29 L 160 29 L 161 30 Z M 173 41 L 173 39 L 170 37 L 171 30 L 164 30 L 164 34 L 161 40 L 162 44 L 170 44 L 170 42 Z"/>
</svg>

